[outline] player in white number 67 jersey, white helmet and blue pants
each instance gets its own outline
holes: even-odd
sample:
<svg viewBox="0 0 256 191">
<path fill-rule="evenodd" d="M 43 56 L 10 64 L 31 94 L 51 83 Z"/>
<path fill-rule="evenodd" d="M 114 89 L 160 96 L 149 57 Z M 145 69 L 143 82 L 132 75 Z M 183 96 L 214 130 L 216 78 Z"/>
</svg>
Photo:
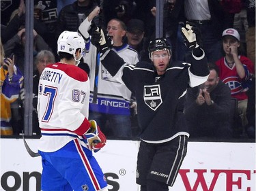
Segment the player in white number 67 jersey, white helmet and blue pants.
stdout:
<svg viewBox="0 0 256 191">
<path fill-rule="evenodd" d="M 57 46 L 60 61 L 44 69 L 38 87 L 41 190 L 106 191 L 106 179 L 92 154 L 105 145 L 106 137 L 96 121 L 87 120 L 89 77 L 76 66 L 84 54 L 84 39 L 64 31 Z"/>
</svg>

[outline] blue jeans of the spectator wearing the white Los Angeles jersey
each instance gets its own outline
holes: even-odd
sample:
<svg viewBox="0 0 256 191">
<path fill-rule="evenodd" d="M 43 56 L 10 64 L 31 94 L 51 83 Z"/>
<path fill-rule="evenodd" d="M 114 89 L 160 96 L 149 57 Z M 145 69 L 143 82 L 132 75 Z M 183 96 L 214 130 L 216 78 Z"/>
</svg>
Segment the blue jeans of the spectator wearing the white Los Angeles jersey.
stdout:
<svg viewBox="0 0 256 191">
<path fill-rule="evenodd" d="M 132 136 L 130 116 L 101 114 L 89 111 L 89 120 L 96 120 L 100 130 L 106 136 L 119 138 Z"/>
</svg>

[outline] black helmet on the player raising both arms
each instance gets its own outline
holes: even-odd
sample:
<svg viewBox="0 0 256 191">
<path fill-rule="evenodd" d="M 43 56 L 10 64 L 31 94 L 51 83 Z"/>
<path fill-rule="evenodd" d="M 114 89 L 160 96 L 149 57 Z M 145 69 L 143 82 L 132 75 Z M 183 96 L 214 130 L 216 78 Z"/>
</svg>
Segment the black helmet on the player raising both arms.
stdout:
<svg viewBox="0 0 256 191">
<path fill-rule="evenodd" d="M 157 38 L 150 41 L 150 46 L 148 47 L 150 58 L 152 57 L 153 52 L 160 50 L 168 50 L 169 55 L 171 55 L 171 48 L 169 44 L 167 44 L 167 40 L 165 38 Z"/>
</svg>

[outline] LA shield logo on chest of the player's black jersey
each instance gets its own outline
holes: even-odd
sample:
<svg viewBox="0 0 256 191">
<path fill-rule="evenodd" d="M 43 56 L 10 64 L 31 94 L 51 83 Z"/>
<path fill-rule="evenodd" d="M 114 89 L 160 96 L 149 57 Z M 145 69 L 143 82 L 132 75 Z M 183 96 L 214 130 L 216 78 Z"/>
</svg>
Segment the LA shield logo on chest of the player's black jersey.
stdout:
<svg viewBox="0 0 256 191">
<path fill-rule="evenodd" d="M 144 101 L 150 109 L 156 111 L 156 109 L 162 104 L 160 86 L 144 86 Z"/>
</svg>

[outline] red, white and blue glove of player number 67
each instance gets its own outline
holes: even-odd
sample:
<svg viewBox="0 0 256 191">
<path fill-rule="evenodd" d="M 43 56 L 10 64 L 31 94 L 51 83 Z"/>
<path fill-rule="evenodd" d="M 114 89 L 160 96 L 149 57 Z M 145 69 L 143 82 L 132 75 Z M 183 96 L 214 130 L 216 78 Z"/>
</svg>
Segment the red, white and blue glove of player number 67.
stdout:
<svg viewBox="0 0 256 191">
<path fill-rule="evenodd" d="M 87 139 L 87 145 L 89 150 L 94 150 L 98 152 L 104 145 L 106 145 L 106 137 L 100 131 L 100 127 L 97 125 L 95 120 L 89 121 L 91 127 L 87 133 L 85 133 L 85 138 Z"/>
</svg>

